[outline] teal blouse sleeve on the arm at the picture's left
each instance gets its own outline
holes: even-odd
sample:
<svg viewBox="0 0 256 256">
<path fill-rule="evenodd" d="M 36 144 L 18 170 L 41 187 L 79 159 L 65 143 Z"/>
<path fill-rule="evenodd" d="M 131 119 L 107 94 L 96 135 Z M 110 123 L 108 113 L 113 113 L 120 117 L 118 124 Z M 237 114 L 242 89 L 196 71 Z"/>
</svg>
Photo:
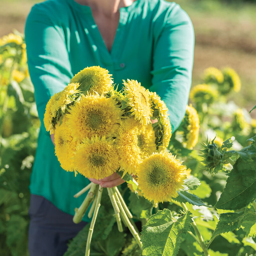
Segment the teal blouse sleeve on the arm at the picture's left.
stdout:
<svg viewBox="0 0 256 256">
<path fill-rule="evenodd" d="M 28 68 L 41 124 L 48 100 L 64 89 L 73 76 L 63 32 L 43 13 L 35 5 L 25 28 Z"/>
</svg>

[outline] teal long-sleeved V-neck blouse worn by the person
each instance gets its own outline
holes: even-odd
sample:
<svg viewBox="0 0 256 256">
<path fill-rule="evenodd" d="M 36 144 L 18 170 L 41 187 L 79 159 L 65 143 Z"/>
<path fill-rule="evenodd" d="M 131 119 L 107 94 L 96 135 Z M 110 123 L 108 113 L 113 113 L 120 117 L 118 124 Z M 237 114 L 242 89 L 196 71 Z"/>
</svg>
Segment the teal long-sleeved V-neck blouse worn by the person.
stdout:
<svg viewBox="0 0 256 256">
<path fill-rule="evenodd" d="M 155 91 L 169 108 L 174 131 L 188 103 L 194 52 L 194 31 L 178 4 L 137 0 L 120 9 L 119 25 L 108 51 L 89 6 L 74 0 L 48 0 L 32 7 L 25 28 L 28 68 L 35 87 L 41 128 L 30 178 L 32 194 L 44 196 L 63 212 L 74 214 L 89 184 L 82 175 L 66 172 L 54 154 L 43 118 L 47 101 L 87 66 L 99 65 L 122 87 L 123 79 L 138 80 Z M 85 221 L 89 221 L 85 214 Z"/>
</svg>

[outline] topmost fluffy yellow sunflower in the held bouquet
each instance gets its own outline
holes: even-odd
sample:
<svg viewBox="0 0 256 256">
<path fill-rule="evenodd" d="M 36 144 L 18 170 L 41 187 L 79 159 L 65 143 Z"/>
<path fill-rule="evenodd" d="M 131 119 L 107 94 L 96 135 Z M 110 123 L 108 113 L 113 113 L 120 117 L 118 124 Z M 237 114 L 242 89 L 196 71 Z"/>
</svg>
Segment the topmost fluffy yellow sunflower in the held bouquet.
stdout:
<svg viewBox="0 0 256 256">
<path fill-rule="evenodd" d="M 71 83 L 79 83 L 79 90 L 84 94 L 97 92 L 100 95 L 107 93 L 113 84 L 111 74 L 108 70 L 100 66 L 87 67 L 78 72 L 72 79 Z"/>
</svg>

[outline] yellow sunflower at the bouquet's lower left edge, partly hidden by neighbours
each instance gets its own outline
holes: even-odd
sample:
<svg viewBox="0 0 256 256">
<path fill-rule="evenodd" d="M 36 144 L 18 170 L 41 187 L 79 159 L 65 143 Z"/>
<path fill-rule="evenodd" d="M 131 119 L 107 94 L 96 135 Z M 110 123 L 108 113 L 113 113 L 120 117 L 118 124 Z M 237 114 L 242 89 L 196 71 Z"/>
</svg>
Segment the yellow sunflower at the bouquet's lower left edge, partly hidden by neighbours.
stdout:
<svg viewBox="0 0 256 256">
<path fill-rule="evenodd" d="M 76 152 L 77 142 L 71 136 L 71 130 L 68 128 L 67 115 L 63 117 L 62 124 L 55 125 L 54 133 L 55 155 L 57 156 L 60 166 L 67 172 L 74 171 L 73 156 Z"/>
</svg>

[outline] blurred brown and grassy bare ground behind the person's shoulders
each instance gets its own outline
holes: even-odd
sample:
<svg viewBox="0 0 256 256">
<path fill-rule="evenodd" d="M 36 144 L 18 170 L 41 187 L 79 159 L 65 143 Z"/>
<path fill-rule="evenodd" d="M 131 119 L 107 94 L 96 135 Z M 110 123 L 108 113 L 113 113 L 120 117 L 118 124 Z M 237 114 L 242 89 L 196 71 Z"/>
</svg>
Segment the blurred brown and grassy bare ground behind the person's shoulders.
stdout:
<svg viewBox="0 0 256 256">
<path fill-rule="evenodd" d="M 1 0 L 0 36 L 13 29 L 24 32 L 26 17 L 36 2 L 40 1 Z M 205 68 L 234 68 L 241 78 L 242 90 L 229 97 L 250 110 L 256 104 L 256 5 L 234 9 L 216 5 L 217 0 L 176 2 L 189 14 L 195 29 L 192 86 L 201 82 Z"/>
</svg>

